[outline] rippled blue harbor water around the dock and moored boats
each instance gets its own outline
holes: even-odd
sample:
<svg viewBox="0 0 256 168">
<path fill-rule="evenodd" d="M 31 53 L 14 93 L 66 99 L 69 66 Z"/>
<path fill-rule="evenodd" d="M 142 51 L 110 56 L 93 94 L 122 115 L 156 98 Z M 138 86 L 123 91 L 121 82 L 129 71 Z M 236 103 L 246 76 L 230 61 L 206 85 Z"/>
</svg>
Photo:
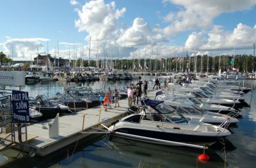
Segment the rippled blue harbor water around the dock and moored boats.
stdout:
<svg viewBox="0 0 256 168">
<path fill-rule="evenodd" d="M 149 78 L 148 76 L 146 77 Z M 143 79 L 143 78 L 142 78 Z M 93 89 L 128 86 L 136 81 L 96 81 L 85 82 L 83 86 Z M 249 81 L 255 86 L 256 81 Z M 30 96 L 45 94 L 52 97 L 63 93 L 65 83 L 51 82 L 21 87 Z M 8 87 L 6 89 L 17 89 Z M 152 145 L 123 138 L 93 137 L 91 142 L 77 142 L 69 148 L 44 158 L 23 156 L 19 151 L 9 149 L 0 153 L 1 167 L 255 167 L 256 160 L 256 90 L 246 94 L 248 108 L 242 108 L 243 117 L 236 126 L 230 128 L 233 134 L 223 144 L 213 145 L 205 153 L 209 162 L 197 159 L 203 150 Z M 17 156 L 17 158 L 16 158 Z M 7 163 L 6 163 L 7 162 Z M 4 164 L 5 163 L 5 164 Z"/>
</svg>

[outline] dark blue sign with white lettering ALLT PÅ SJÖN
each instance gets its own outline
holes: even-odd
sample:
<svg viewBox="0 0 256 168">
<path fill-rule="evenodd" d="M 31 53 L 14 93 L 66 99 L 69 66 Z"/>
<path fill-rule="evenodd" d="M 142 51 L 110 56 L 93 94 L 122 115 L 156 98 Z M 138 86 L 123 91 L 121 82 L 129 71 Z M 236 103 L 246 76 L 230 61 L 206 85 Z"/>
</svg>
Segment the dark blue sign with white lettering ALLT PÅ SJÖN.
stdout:
<svg viewBox="0 0 256 168">
<path fill-rule="evenodd" d="M 22 122 L 30 120 L 28 92 L 12 90 L 12 110 L 14 112 L 14 119 Z"/>
</svg>

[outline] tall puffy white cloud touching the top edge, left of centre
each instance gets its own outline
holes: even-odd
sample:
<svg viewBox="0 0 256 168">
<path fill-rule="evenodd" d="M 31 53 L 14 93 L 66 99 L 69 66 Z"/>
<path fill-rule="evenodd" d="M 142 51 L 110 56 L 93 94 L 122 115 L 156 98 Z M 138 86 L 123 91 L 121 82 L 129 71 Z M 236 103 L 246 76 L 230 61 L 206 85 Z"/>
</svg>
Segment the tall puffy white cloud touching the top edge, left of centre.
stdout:
<svg viewBox="0 0 256 168">
<path fill-rule="evenodd" d="M 125 11 L 125 7 L 115 9 L 115 2 L 89 1 L 81 10 L 77 10 L 79 19 L 75 20 L 75 26 L 79 31 L 88 32 L 94 40 L 113 39 L 118 36 L 118 18 Z"/>
</svg>

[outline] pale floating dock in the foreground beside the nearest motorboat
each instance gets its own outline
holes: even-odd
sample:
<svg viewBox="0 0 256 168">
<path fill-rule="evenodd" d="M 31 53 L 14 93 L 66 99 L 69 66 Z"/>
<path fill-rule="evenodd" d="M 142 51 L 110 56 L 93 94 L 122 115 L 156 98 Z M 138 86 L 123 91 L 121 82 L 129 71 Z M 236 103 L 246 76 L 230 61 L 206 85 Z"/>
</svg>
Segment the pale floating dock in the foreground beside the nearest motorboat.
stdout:
<svg viewBox="0 0 256 168">
<path fill-rule="evenodd" d="M 120 107 L 114 108 L 113 103 L 112 109 L 108 108 L 107 111 L 104 111 L 102 106 L 97 106 L 59 117 L 57 138 L 49 138 L 49 126 L 54 119 L 27 126 L 28 136 L 35 138 L 24 144 L 23 150 L 28 153 L 35 152 L 37 156 L 46 156 L 94 134 L 98 131 L 96 129 L 102 129 L 101 124 L 110 126 L 112 122 L 128 114 L 128 99 L 119 100 L 119 104 Z"/>
</svg>

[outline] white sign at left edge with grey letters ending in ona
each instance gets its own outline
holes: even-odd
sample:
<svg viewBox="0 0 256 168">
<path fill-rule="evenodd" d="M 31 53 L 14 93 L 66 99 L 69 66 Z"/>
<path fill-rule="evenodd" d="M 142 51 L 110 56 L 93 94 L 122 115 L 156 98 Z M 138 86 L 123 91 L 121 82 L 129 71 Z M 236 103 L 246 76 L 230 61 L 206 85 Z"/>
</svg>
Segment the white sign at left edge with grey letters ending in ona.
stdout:
<svg viewBox="0 0 256 168">
<path fill-rule="evenodd" d="M 25 85 L 25 71 L 0 71 L 0 85 L 23 86 Z"/>
</svg>

